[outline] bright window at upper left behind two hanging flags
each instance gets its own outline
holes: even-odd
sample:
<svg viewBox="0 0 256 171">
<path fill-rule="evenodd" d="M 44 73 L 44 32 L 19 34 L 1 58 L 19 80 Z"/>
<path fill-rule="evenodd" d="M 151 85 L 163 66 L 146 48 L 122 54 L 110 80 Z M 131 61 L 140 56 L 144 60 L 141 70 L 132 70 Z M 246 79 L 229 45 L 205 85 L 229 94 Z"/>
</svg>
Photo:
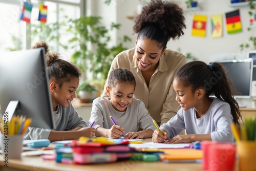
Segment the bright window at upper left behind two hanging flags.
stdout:
<svg viewBox="0 0 256 171">
<path fill-rule="evenodd" d="M 43 2 L 43 3 L 41 3 Z M 31 0 L 32 13 L 31 23 L 27 24 L 20 20 L 22 0 L 0 0 L 0 14 L 3 26 L 0 27 L 1 36 L 0 50 L 10 51 L 30 49 L 40 39 L 44 39 L 51 47 L 51 52 L 61 53 L 63 58 L 72 54 L 65 50 L 62 45 L 68 45 L 68 35 L 65 24 L 68 18 L 79 18 L 83 8 L 80 0 Z M 38 5 L 48 6 L 47 23 L 38 21 Z M 68 16 L 68 18 L 66 18 Z"/>
</svg>

